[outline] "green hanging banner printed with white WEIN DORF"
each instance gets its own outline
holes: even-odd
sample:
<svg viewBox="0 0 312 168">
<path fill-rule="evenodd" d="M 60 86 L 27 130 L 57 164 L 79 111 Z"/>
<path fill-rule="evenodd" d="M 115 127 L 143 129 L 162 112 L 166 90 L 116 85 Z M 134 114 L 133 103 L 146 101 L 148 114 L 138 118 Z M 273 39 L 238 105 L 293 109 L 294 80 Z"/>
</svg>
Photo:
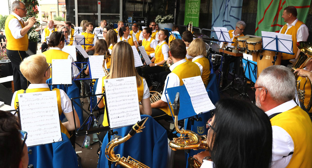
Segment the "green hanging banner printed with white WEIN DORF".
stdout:
<svg viewBox="0 0 312 168">
<path fill-rule="evenodd" d="M 193 22 L 193 26 L 198 27 L 200 0 L 185 0 L 184 25 Z"/>
</svg>

